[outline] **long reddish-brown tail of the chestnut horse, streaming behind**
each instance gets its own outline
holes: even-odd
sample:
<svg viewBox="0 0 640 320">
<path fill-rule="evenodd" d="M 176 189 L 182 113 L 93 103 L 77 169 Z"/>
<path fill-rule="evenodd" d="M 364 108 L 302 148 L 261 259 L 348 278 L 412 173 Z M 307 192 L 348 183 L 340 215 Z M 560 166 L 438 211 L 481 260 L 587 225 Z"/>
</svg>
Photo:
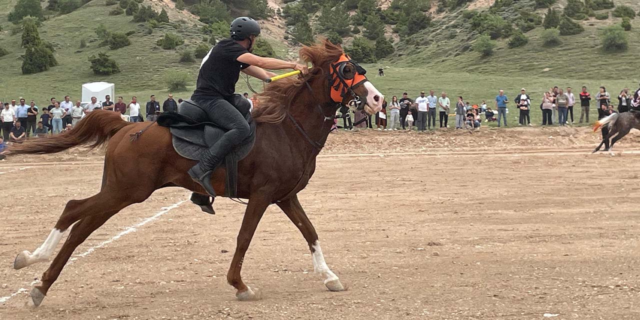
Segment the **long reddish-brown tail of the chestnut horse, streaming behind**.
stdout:
<svg viewBox="0 0 640 320">
<path fill-rule="evenodd" d="M 24 143 L 14 143 L 8 154 L 52 154 L 79 145 L 97 148 L 107 143 L 120 129 L 132 125 L 120 117 L 120 113 L 94 110 L 77 123 L 74 129 L 42 138 L 31 138 Z"/>
</svg>

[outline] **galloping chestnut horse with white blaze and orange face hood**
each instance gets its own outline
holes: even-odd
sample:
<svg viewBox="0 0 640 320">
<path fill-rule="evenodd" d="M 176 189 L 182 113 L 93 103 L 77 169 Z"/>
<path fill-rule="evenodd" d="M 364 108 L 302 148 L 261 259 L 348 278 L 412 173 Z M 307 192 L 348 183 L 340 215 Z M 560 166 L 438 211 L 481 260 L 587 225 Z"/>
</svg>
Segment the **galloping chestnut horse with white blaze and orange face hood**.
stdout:
<svg viewBox="0 0 640 320">
<path fill-rule="evenodd" d="M 268 205 L 274 203 L 307 240 L 314 270 L 324 277 L 324 285 L 330 291 L 344 290 L 338 276 L 324 262 L 316 230 L 302 209 L 297 193 L 307 186 L 316 169 L 316 156 L 329 135 L 337 108 L 351 104 L 375 113 L 382 108 L 384 97 L 367 81 L 364 69 L 328 40 L 303 47 L 300 57 L 314 67 L 305 77 L 268 84 L 262 103 L 253 111 L 257 122 L 255 145 L 238 164 L 237 192 L 239 197 L 248 198 L 248 205 L 227 281 L 236 288 L 239 300 L 257 298 L 244 284 L 240 271 L 255 228 Z M 20 269 L 48 260 L 65 230 L 76 223 L 42 275 L 42 284 L 31 290 L 31 300 L 36 306 L 42 303 L 77 246 L 123 208 L 143 202 L 156 189 L 167 186 L 180 186 L 206 195 L 187 174 L 195 163 L 175 152 L 169 129 L 152 124 L 145 134 L 136 135 L 145 126 L 147 124 L 125 122 L 119 113 L 97 110 L 71 131 L 55 138 L 28 140 L 10 149 L 10 154 L 48 154 L 79 145 L 107 144 L 100 192 L 90 198 L 67 202 L 44 243 L 33 253 L 19 253 L 13 263 L 15 269 Z M 138 138 L 132 140 L 132 136 Z M 218 195 L 224 194 L 224 178 L 224 168 L 218 168 L 212 175 Z"/>
</svg>

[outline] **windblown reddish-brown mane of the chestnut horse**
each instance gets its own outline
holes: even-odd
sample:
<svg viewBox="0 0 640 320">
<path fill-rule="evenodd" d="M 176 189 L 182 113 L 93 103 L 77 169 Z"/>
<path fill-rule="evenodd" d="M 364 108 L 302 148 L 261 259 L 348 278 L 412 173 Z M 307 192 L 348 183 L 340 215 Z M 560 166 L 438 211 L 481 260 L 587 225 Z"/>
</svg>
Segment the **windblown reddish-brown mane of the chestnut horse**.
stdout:
<svg viewBox="0 0 640 320">
<path fill-rule="evenodd" d="M 337 61 L 344 54 L 342 47 L 332 44 L 326 38 L 320 39 L 316 44 L 303 46 L 300 49 L 300 58 L 305 63 L 314 66 L 309 70 L 305 78 L 286 77 L 269 83 L 264 92 L 258 95 L 259 104 L 253 108 L 252 116 L 257 122 L 277 124 L 285 118 L 287 109 L 301 90 L 307 90 L 305 81 L 313 83 L 318 79 L 326 78 L 324 66 Z"/>
</svg>

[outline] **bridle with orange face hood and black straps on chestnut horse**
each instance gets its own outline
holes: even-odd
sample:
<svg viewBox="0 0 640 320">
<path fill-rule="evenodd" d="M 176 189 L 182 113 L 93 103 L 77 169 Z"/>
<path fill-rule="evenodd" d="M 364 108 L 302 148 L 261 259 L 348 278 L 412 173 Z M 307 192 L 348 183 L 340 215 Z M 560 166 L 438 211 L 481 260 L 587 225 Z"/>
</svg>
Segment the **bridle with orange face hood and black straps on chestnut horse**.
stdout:
<svg viewBox="0 0 640 320">
<path fill-rule="evenodd" d="M 344 68 L 348 65 L 353 67 L 353 77 L 345 77 Z M 346 106 L 348 106 L 351 110 L 364 109 L 364 105 L 366 104 L 367 100 L 360 99 L 360 97 L 358 97 L 358 95 L 356 95 L 355 91 L 353 90 L 355 88 L 358 88 L 358 86 L 362 86 L 367 81 L 367 77 L 365 77 L 367 70 L 365 70 L 363 67 L 360 67 L 360 65 L 358 65 L 358 63 L 356 63 L 355 61 L 351 60 L 351 58 L 349 58 L 347 54 L 342 54 L 338 61 L 330 65 L 330 68 L 331 69 L 328 74 L 328 80 L 332 102 L 329 102 L 329 104 L 335 104 L 335 109 L 338 109 L 340 108 L 340 106 L 345 106 L 343 101 L 346 97 L 348 97 L 347 95 L 350 95 L 352 99 L 349 100 Z M 307 79 L 305 79 L 305 84 L 307 85 L 307 89 L 309 90 L 309 92 L 313 93 L 313 89 L 311 88 L 311 85 L 308 83 Z M 320 104 L 317 104 L 316 108 L 319 109 L 320 114 L 324 117 L 321 129 L 324 130 L 324 124 L 327 121 L 331 121 L 333 125 L 333 119 L 335 119 L 335 115 L 324 115 L 323 108 Z M 300 124 L 298 124 L 296 119 L 291 115 L 291 113 L 289 113 L 289 111 L 287 111 L 287 117 L 289 118 L 289 120 L 291 120 L 291 122 L 293 122 L 293 125 L 294 127 L 296 127 L 298 132 L 300 132 L 300 134 L 307 140 L 307 142 L 312 147 L 314 147 L 314 150 L 320 152 L 320 150 L 324 147 L 324 142 L 320 143 L 319 141 L 314 141 L 307 134 L 305 129 L 303 129 Z"/>
</svg>

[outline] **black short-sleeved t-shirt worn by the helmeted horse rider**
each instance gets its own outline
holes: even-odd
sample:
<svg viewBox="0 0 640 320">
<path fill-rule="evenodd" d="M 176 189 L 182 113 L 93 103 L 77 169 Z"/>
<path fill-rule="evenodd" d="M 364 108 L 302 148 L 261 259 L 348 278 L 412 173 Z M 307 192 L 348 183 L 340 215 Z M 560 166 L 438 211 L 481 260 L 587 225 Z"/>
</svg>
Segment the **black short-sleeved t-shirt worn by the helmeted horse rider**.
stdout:
<svg viewBox="0 0 640 320">
<path fill-rule="evenodd" d="M 202 60 L 196 90 L 191 99 L 229 97 L 234 94 L 240 71 L 249 67 L 236 59 L 247 52 L 235 40 L 218 42 Z"/>
</svg>

